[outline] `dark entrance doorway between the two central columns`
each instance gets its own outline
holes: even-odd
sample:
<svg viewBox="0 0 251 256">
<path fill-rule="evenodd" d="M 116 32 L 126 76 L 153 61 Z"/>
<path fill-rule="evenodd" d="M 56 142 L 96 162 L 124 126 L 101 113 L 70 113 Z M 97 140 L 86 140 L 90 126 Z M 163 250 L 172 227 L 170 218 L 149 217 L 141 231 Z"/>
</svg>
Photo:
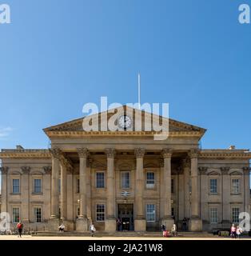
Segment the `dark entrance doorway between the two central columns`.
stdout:
<svg viewBox="0 0 251 256">
<path fill-rule="evenodd" d="M 118 204 L 118 231 L 134 230 L 133 204 Z"/>
</svg>

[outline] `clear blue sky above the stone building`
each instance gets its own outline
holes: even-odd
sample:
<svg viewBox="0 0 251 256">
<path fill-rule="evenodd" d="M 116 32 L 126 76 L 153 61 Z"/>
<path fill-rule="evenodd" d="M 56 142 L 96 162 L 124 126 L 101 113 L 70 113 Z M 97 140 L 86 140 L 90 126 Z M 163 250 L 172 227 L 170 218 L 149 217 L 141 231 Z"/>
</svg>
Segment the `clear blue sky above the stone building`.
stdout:
<svg viewBox="0 0 251 256">
<path fill-rule="evenodd" d="M 251 147 L 251 25 L 245 0 L 4 0 L 0 148 L 46 148 L 42 128 L 86 102 L 169 102 L 208 129 L 204 148 Z"/>
</svg>

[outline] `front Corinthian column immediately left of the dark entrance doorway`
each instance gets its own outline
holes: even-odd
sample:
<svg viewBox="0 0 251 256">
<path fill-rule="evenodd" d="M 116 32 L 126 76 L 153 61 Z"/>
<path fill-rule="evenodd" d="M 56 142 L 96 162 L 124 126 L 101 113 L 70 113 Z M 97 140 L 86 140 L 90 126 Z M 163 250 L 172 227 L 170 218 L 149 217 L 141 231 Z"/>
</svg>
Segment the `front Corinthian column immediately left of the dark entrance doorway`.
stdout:
<svg viewBox="0 0 251 256">
<path fill-rule="evenodd" d="M 105 222 L 106 231 L 116 231 L 115 219 L 115 182 L 114 182 L 114 155 L 113 148 L 106 149 L 107 155 L 107 186 L 106 186 L 106 213 L 107 218 Z"/>
</svg>

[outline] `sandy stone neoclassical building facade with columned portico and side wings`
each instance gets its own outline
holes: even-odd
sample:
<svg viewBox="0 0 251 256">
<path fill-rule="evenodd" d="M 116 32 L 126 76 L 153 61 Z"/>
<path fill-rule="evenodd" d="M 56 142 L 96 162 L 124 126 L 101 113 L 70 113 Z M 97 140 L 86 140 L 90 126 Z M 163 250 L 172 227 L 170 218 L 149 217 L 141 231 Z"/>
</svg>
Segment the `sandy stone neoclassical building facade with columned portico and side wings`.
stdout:
<svg viewBox="0 0 251 256">
<path fill-rule="evenodd" d="M 189 230 L 200 231 L 250 213 L 249 150 L 202 150 L 205 129 L 172 119 L 169 137 L 154 140 L 153 130 L 134 129 L 135 111 L 122 130 L 85 131 L 79 118 L 44 129 L 50 149 L 2 150 L 1 211 L 12 225 L 144 231 L 173 222 L 181 229 L 187 218 Z"/>
</svg>

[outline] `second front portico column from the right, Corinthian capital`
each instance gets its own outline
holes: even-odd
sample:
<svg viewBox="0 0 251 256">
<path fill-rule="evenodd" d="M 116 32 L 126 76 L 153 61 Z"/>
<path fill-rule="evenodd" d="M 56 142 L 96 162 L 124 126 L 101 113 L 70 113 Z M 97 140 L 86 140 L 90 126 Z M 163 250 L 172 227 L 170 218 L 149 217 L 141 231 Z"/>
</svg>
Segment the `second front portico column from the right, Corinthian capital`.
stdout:
<svg viewBox="0 0 251 256">
<path fill-rule="evenodd" d="M 161 186 L 164 186 L 163 197 L 164 197 L 164 218 L 162 223 L 165 224 L 167 230 L 170 230 L 173 226 L 172 218 L 172 200 L 171 200 L 171 158 L 172 150 L 164 149 L 162 150 L 162 156 L 164 159 L 164 168 L 163 168 L 163 181 Z"/>
</svg>

